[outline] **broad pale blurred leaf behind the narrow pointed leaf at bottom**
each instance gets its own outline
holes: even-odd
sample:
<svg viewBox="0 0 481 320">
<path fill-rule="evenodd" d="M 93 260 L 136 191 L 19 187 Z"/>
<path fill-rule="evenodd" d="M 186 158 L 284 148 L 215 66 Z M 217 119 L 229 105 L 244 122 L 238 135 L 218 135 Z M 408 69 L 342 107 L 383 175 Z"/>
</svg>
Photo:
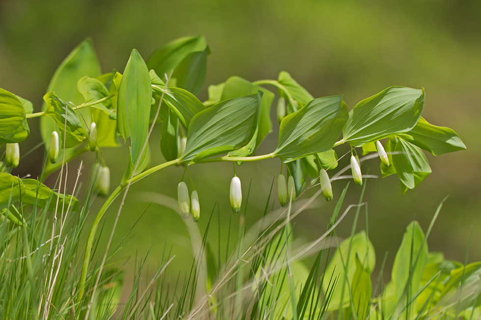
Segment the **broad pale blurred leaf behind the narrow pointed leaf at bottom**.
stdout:
<svg viewBox="0 0 481 320">
<path fill-rule="evenodd" d="M 376 261 L 375 252 L 374 246 L 364 231 L 356 233 L 341 242 L 325 270 L 322 282 L 324 292 L 329 288 L 331 275 L 332 280 L 337 279 L 327 310 L 338 310 L 349 305 L 351 299 L 348 284 L 352 284 L 357 269 L 354 263 L 356 255 L 359 255 L 363 269 L 371 273 L 374 270 Z"/>
</svg>

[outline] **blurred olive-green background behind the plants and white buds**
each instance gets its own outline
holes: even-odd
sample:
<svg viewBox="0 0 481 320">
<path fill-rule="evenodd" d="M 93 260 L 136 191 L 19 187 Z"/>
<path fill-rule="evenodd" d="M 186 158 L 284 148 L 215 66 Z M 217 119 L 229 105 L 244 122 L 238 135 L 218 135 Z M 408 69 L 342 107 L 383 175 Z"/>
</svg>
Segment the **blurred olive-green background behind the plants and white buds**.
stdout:
<svg viewBox="0 0 481 320">
<path fill-rule="evenodd" d="M 86 37 L 94 41 L 103 72 L 123 71 L 133 48 L 147 59 L 160 45 L 175 38 L 203 34 L 212 54 L 207 79 L 200 94 L 207 99 L 207 86 L 239 75 L 248 80 L 276 79 L 288 71 L 314 97 L 344 94 L 348 108 L 392 85 L 424 87 L 427 98 L 423 116 L 436 125 L 453 128 L 467 150 L 440 157 L 428 154 L 433 173 L 415 190 L 402 196 L 399 179 L 371 179 L 364 200 L 369 208 L 370 239 L 376 248 L 378 267 L 388 251 L 392 264 L 402 233 L 412 220 L 426 230 L 440 201 L 449 195 L 428 240 L 430 250 L 442 250 L 446 258 L 464 261 L 473 227 L 468 261 L 481 260 L 481 1 L 319 1 L 319 0 L 3 0 L 0 1 L 0 87 L 33 102 L 40 111 L 42 97 L 56 67 Z M 271 90 L 273 88 L 270 88 Z M 273 108 L 273 111 L 275 108 Z M 277 143 L 278 124 L 257 154 L 270 152 Z M 30 121 L 31 134 L 21 144 L 21 154 L 40 142 L 38 121 Z M 151 140 L 152 159 L 163 161 L 160 129 Z M 30 147 L 27 147 L 29 145 Z M 38 175 L 43 148 L 21 161 L 21 176 Z M 340 148 L 338 154 L 343 154 Z M 111 168 L 112 190 L 127 166 L 127 147 L 104 150 Z M 82 159 L 83 185 L 90 175 L 93 154 Z M 347 165 L 347 159 L 340 167 Z M 71 167 L 78 167 L 75 160 Z M 244 199 L 251 181 L 246 223 L 257 221 L 264 211 L 270 185 L 279 172 L 278 160 L 245 163 L 237 169 Z M 363 172 L 380 174 L 379 160 L 363 165 Z M 369 168 L 369 169 L 368 169 Z M 205 230 L 217 201 L 215 227 L 210 242 L 217 251 L 220 217 L 224 251 L 232 218 L 231 238 L 236 236 L 239 216 L 232 215 L 228 187 L 231 164 L 191 166 L 190 172 L 201 203 L 199 227 Z M 176 197 L 182 168 L 158 172 L 131 188 L 120 217 L 114 246 L 132 228 L 118 258 L 143 256 L 152 246 L 149 263 L 158 265 L 167 247 L 177 255 L 171 272 L 188 270 L 192 253 L 187 229 L 173 211 L 138 202 L 143 191 Z M 252 179 L 252 180 L 251 180 Z M 334 201 L 347 180 L 333 183 Z M 189 185 L 190 190 L 191 186 Z M 276 188 L 273 189 L 276 194 Z M 313 191 L 307 192 L 313 194 Z M 358 201 L 360 188 L 351 183 L 346 204 Z M 275 207 L 279 207 L 274 197 Z M 106 215 L 109 225 L 120 201 Z M 91 220 L 102 204 L 91 207 Z M 294 236 L 301 241 L 319 237 L 325 230 L 335 203 L 316 201 L 295 219 Z M 341 223 L 338 234 L 347 236 L 352 216 Z M 90 221 L 91 221 L 90 220 Z M 364 227 L 361 218 L 358 230 Z M 132 260 L 131 260 L 132 262 Z M 133 264 L 127 270 L 132 270 Z"/>
</svg>

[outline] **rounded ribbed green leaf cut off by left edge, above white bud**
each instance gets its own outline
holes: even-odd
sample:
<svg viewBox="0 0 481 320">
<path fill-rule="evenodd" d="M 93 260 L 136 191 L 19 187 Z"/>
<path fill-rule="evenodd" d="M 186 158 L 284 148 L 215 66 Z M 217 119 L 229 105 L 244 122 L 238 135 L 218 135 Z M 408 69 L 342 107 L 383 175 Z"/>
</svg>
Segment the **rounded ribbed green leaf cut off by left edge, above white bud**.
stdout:
<svg viewBox="0 0 481 320">
<path fill-rule="evenodd" d="M 29 133 L 22 101 L 0 88 L 0 143 L 23 141 Z"/>
</svg>

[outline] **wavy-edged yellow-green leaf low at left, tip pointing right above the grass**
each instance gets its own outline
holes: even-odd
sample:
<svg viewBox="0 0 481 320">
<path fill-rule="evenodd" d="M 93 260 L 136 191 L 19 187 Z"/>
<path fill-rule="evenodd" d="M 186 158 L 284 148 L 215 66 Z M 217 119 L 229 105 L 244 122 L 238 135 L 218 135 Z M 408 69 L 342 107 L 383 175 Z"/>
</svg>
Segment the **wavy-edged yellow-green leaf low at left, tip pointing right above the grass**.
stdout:
<svg viewBox="0 0 481 320">
<path fill-rule="evenodd" d="M 69 203 L 70 211 L 80 211 L 79 200 L 74 196 L 64 196 L 51 190 L 49 187 L 35 179 L 22 179 L 25 194 L 22 196 L 22 203 L 36 205 L 37 207 L 54 212 L 58 201 L 58 212 L 67 212 Z"/>
</svg>

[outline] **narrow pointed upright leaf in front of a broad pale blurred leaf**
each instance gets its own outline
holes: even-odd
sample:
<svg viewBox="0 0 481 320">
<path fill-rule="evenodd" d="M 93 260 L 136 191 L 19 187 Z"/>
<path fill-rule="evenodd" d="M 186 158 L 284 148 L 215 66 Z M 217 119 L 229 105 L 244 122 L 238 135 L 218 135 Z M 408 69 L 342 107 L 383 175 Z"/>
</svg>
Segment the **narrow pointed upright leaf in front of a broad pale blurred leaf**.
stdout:
<svg viewBox="0 0 481 320">
<path fill-rule="evenodd" d="M 352 278 L 351 291 L 357 319 L 366 319 L 372 294 L 372 283 L 367 271 L 356 253 L 356 271 Z"/>
</svg>

